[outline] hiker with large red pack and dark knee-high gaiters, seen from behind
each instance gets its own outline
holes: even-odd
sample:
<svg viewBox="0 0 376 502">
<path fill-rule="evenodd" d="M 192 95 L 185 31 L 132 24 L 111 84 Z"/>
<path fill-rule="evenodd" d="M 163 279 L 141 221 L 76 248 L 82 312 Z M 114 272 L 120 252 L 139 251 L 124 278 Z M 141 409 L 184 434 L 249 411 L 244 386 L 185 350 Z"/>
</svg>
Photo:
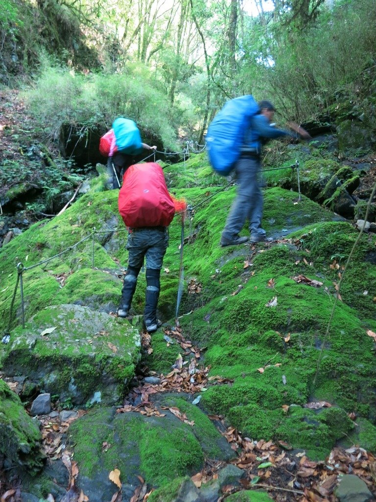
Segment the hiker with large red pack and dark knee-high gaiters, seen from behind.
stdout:
<svg viewBox="0 0 376 502">
<path fill-rule="evenodd" d="M 146 258 L 144 323 L 147 332 L 152 333 L 161 326 L 156 308 L 160 291 L 160 269 L 168 245 L 167 227 L 175 212 L 186 209 L 186 203 L 174 199 L 168 193 L 160 165 L 148 162 L 132 165 L 125 171 L 118 206 L 129 232 L 126 245 L 128 269 L 117 315 L 129 315 L 137 277 Z"/>
</svg>

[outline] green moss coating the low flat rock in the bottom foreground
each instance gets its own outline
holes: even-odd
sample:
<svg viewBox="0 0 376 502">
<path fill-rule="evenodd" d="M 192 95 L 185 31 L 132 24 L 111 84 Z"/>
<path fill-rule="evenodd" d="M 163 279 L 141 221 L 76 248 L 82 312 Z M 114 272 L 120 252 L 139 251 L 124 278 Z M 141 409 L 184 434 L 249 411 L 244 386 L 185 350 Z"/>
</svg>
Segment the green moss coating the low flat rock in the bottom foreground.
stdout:
<svg viewBox="0 0 376 502">
<path fill-rule="evenodd" d="M 129 460 L 139 456 L 145 480 L 158 486 L 202 467 L 203 450 L 190 426 L 162 418 L 147 421 L 138 413 L 121 414 L 111 422 L 111 414 L 108 409 L 96 410 L 70 427 L 82 474 L 92 475 L 98 465 L 109 470 L 117 466 L 124 480 L 134 475 Z M 106 452 L 102 451 L 104 441 L 111 444 Z"/>
</svg>

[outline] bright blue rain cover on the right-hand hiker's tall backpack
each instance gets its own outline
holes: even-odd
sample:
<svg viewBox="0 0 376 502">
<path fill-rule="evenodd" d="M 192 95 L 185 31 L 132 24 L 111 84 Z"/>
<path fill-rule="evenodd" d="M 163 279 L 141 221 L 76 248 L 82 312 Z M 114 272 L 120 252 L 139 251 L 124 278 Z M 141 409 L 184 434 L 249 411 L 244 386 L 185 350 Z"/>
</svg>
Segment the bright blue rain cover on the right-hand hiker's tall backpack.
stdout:
<svg viewBox="0 0 376 502">
<path fill-rule="evenodd" d="M 250 119 L 259 111 L 253 96 L 227 101 L 208 128 L 209 162 L 216 173 L 227 176 L 240 157 L 245 132 Z"/>
</svg>

